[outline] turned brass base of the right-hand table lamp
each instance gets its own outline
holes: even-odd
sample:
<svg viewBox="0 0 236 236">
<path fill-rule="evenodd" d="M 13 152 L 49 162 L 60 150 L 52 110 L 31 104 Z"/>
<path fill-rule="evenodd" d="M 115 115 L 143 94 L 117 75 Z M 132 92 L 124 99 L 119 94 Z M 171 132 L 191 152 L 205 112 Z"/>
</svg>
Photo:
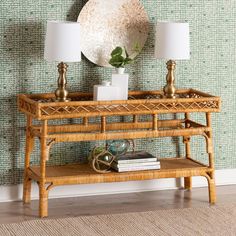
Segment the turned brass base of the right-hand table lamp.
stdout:
<svg viewBox="0 0 236 236">
<path fill-rule="evenodd" d="M 167 63 L 168 74 L 166 75 L 166 86 L 163 88 L 165 98 L 176 98 L 175 92 L 175 77 L 174 70 L 176 67 L 175 61 L 169 60 Z"/>
</svg>

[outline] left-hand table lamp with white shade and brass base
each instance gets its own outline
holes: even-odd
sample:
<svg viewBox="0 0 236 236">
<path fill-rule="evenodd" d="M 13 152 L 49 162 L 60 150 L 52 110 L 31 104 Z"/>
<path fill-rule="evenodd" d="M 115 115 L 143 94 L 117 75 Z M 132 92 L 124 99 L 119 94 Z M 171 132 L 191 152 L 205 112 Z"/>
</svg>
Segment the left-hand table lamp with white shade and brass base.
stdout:
<svg viewBox="0 0 236 236">
<path fill-rule="evenodd" d="M 58 88 L 55 91 L 56 101 L 67 102 L 65 62 L 81 61 L 80 25 L 78 22 L 48 21 L 44 48 L 44 58 L 47 61 L 58 61 Z"/>
</svg>

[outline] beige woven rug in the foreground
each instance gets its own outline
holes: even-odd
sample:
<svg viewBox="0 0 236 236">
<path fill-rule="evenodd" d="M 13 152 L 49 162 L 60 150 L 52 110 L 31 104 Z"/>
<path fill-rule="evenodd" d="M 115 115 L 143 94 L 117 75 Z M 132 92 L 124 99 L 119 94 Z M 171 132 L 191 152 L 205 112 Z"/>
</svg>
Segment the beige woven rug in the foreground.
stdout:
<svg viewBox="0 0 236 236">
<path fill-rule="evenodd" d="M 149 236 L 236 235 L 236 204 L 0 225 L 0 235 Z"/>
</svg>

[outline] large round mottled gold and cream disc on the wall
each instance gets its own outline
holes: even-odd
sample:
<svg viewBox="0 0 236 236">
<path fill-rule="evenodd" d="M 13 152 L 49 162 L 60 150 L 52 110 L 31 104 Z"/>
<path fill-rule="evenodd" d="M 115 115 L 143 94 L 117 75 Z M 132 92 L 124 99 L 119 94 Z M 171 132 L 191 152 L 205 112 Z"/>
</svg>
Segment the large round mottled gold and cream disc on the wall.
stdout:
<svg viewBox="0 0 236 236">
<path fill-rule="evenodd" d="M 148 15 L 139 0 L 89 0 L 81 10 L 81 49 L 91 62 L 105 67 L 116 46 L 132 54 L 142 49 L 149 31 Z"/>
</svg>

